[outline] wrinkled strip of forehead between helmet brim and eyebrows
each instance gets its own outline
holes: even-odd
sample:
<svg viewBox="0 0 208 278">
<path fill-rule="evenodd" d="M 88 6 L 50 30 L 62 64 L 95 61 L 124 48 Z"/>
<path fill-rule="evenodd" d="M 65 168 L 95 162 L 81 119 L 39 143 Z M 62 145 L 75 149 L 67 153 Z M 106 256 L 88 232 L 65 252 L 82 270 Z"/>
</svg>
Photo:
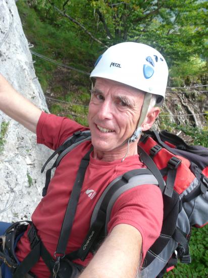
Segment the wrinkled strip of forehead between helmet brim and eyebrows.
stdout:
<svg viewBox="0 0 208 278">
<path fill-rule="evenodd" d="M 106 78 L 101 78 L 97 77 L 94 80 L 94 89 L 99 89 L 100 91 L 105 91 L 105 90 L 112 90 L 112 92 L 118 93 L 118 91 L 121 94 L 126 94 L 126 95 L 134 95 L 138 97 L 144 97 L 145 92 L 142 90 L 139 90 L 137 88 L 131 87 L 129 85 L 123 84 L 118 81 L 106 79 Z"/>
</svg>

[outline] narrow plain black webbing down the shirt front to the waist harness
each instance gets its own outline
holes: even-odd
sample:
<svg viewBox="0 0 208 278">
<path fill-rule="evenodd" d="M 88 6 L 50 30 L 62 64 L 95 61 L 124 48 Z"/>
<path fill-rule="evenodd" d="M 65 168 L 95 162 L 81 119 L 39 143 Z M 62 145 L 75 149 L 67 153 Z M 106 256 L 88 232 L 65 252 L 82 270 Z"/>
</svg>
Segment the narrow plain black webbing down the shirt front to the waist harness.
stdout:
<svg viewBox="0 0 208 278">
<path fill-rule="evenodd" d="M 79 196 L 81 193 L 81 188 L 84 180 L 84 175 L 89 164 L 89 155 L 92 151 L 92 148 L 87 152 L 87 154 L 82 158 L 79 170 L 77 172 L 77 177 L 73 186 L 71 197 L 65 212 L 64 221 L 61 228 L 61 233 L 59 237 L 59 242 L 57 245 L 57 250 L 54 254 L 56 260 L 54 260 L 49 252 L 44 247 L 40 238 L 36 234 L 36 229 L 34 225 L 31 225 L 30 230 L 28 231 L 28 239 L 30 241 L 31 252 L 25 257 L 22 263 L 16 268 L 13 278 L 23 277 L 32 267 L 35 265 L 39 258 L 42 257 L 45 264 L 53 277 L 56 277 L 60 269 L 60 260 L 65 257 L 65 251 L 67 247 L 67 242 L 71 233 Z"/>
</svg>

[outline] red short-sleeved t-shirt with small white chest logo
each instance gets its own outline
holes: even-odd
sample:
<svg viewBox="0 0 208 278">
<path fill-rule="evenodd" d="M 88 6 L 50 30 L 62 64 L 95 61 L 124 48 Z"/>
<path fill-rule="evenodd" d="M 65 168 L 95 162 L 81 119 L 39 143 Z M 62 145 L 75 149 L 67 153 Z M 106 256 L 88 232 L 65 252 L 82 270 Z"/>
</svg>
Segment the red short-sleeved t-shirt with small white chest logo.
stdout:
<svg viewBox="0 0 208 278">
<path fill-rule="evenodd" d="M 42 113 L 37 124 L 37 143 L 56 150 L 74 132 L 86 129 L 68 118 Z M 80 161 L 90 148 L 90 141 L 83 142 L 62 159 L 50 181 L 47 195 L 42 198 L 32 214 L 32 221 L 38 230 L 38 235 L 51 256 L 56 251 Z M 144 168 L 138 155 L 127 157 L 123 162 L 121 160 L 105 162 L 94 159 L 93 154 L 90 154 L 66 253 L 77 250 L 81 246 L 90 226 L 94 206 L 108 184 L 116 177 L 135 168 Z M 133 188 L 118 198 L 112 209 L 108 231 L 121 223 L 136 227 L 142 236 L 142 258 L 144 258 L 148 248 L 160 235 L 162 221 L 161 191 L 152 184 L 146 184 Z M 22 261 L 29 251 L 30 244 L 26 232 L 16 250 L 19 260 Z M 75 260 L 75 262 L 86 266 L 91 258 L 92 254 L 89 253 L 84 261 Z M 38 278 L 50 276 L 41 258 L 31 271 Z"/>
</svg>

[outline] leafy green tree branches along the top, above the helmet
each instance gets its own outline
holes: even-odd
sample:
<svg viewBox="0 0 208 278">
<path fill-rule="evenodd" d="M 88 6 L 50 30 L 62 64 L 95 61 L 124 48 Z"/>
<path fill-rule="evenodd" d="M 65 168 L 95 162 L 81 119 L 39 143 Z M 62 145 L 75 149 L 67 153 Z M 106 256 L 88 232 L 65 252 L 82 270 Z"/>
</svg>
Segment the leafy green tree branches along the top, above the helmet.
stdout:
<svg viewBox="0 0 208 278">
<path fill-rule="evenodd" d="M 102 51 L 126 40 L 147 43 L 169 66 L 205 60 L 207 6 L 204 0 L 37 0 L 35 5 L 42 17 L 60 25 L 68 21 L 66 26 Z"/>
</svg>

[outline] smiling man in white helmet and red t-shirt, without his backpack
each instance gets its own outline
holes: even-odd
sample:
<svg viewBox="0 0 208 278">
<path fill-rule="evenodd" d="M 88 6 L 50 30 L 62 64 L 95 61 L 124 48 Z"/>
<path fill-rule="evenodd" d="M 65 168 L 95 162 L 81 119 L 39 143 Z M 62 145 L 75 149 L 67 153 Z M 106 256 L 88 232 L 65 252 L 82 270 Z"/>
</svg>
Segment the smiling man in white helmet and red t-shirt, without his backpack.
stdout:
<svg viewBox="0 0 208 278">
<path fill-rule="evenodd" d="M 90 77 L 93 84 L 88 115 L 91 142 L 81 143 L 63 158 L 47 195 L 32 215 L 38 236 L 52 257 L 56 255 L 80 161 L 92 146 L 66 253 L 81 246 L 93 208 L 108 184 L 129 170 L 145 167 L 139 160 L 137 143 L 141 131 L 148 130 L 160 112 L 154 105 L 163 103 L 168 68 L 162 55 L 148 45 L 124 42 L 98 58 Z M 88 129 L 67 118 L 41 112 L 2 76 L 0 108 L 36 132 L 37 143 L 54 150 L 74 132 Z M 94 192 L 93 198 L 88 198 L 89 190 Z M 74 261 L 86 266 L 80 277 L 135 277 L 139 262 L 160 235 L 162 220 L 163 200 L 158 187 L 144 184 L 123 193 L 113 207 L 107 239 L 94 256 L 89 253 L 84 261 Z M 29 252 L 25 233 L 17 243 L 19 261 Z M 31 272 L 41 278 L 50 276 L 42 258 Z"/>
</svg>

